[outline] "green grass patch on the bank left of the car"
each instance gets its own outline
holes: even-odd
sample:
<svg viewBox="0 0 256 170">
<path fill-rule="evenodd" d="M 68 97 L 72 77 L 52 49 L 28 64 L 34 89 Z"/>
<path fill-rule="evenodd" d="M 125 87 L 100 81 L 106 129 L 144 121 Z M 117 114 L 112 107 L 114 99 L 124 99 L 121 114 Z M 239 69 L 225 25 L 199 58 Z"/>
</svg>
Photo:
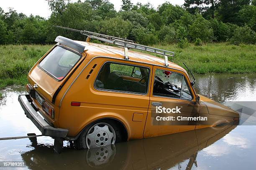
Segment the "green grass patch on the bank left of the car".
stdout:
<svg viewBox="0 0 256 170">
<path fill-rule="evenodd" d="M 0 45 L 0 89 L 25 85 L 33 65 L 53 45 Z"/>
</svg>

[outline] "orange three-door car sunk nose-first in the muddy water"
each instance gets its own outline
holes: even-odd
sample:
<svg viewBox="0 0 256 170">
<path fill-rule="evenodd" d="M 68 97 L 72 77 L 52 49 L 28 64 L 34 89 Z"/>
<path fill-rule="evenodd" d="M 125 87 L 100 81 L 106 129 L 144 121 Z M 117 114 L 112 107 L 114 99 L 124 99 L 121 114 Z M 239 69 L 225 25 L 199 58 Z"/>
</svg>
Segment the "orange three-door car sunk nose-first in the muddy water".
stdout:
<svg viewBox="0 0 256 170">
<path fill-rule="evenodd" d="M 28 73 L 29 94 L 18 98 L 26 116 L 55 138 L 56 146 L 69 140 L 77 149 L 95 148 L 239 121 L 237 112 L 197 95 L 186 70 L 167 60 L 173 52 L 85 33 L 87 42 L 56 37 L 58 43 Z"/>
</svg>

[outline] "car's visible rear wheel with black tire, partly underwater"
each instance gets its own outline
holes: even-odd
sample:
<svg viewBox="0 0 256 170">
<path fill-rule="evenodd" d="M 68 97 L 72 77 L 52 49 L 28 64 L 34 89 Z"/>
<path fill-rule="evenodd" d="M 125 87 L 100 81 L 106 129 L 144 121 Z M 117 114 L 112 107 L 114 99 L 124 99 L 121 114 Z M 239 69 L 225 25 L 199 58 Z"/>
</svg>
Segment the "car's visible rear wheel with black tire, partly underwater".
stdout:
<svg viewBox="0 0 256 170">
<path fill-rule="evenodd" d="M 109 132 L 108 132 L 106 126 L 108 126 L 108 129 L 110 132 L 113 131 L 112 139 L 105 138 L 106 136 L 112 135 L 111 133 L 108 134 Z M 95 129 L 97 129 L 97 131 Z M 89 132 L 89 130 L 90 130 L 90 132 Z M 103 136 L 104 133 L 106 133 L 105 136 Z M 96 137 L 95 134 L 96 135 L 100 134 L 100 136 Z M 94 141 L 91 141 L 93 139 L 92 138 L 89 139 L 88 135 L 95 136 Z M 102 141 L 99 139 L 102 139 Z M 93 144 L 91 147 L 90 147 L 88 140 L 90 142 L 92 142 L 92 144 Z M 109 141 L 106 142 L 105 140 L 109 140 Z M 111 143 L 110 143 L 110 140 L 112 140 Z M 86 128 L 84 128 L 84 130 L 79 135 L 77 140 L 74 140 L 74 148 L 76 150 L 83 150 L 83 149 L 92 148 L 92 147 L 97 148 L 97 147 L 102 147 L 102 146 L 106 146 L 106 145 L 110 145 L 110 144 L 119 143 L 119 142 L 121 142 L 121 140 L 122 140 L 122 136 L 120 133 L 120 127 L 118 127 L 116 125 L 115 121 L 113 121 L 113 120 L 97 120 L 96 122 L 93 122 L 90 125 L 88 125 Z M 98 143 L 96 143 L 96 142 L 98 142 Z M 103 145 L 100 145 L 102 143 L 103 143 Z"/>
</svg>

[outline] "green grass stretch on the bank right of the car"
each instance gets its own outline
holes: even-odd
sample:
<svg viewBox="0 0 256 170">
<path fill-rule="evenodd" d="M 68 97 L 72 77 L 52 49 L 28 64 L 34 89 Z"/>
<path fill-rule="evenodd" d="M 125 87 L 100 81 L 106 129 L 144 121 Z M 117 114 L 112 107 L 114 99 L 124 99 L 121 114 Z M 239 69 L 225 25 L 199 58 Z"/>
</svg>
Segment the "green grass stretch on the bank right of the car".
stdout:
<svg viewBox="0 0 256 170">
<path fill-rule="evenodd" d="M 197 74 L 256 72 L 256 45 L 209 43 L 203 46 L 190 44 L 184 49 L 177 45 L 153 45 L 153 47 L 173 51 L 175 55 L 169 57 L 170 61 L 182 67 L 184 62 Z"/>
</svg>

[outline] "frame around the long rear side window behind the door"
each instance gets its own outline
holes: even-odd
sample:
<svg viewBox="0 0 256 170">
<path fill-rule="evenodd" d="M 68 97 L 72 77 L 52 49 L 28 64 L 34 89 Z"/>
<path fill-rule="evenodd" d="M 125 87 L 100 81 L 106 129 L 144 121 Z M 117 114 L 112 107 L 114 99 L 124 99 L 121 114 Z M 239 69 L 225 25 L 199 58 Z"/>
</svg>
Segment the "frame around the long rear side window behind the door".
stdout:
<svg viewBox="0 0 256 170">
<path fill-rule="evenodd" d="M 113 63 L 113 64 L 129 65 L 129 66 L 133 66 L 133 67 L 144 67 L 144 68 L 147 68 L 147 69 L 149 70 L 149 73 L 148 73 L 148 88 L 147 88 L 147 92 L 146 92 L 145 94 L 143 94 L 143 93 L 138 93 L 138 92 L 126 92 L 126 91 L 120 91 L 120 90 L 99 89 L 99 88 L 95 87 L 95 82 L 96 82 L 97 77 L 98 77 L 98 75 L 99 75 L 99 73 L 100 73 L 100 70 L 102 69 L 102 67 L 103 67 L 106 63 Z M 93 87 L 94 87 L 95 90 L 99 90 L 99 91 L 118 92 L 118 93 L 133 94 L 133 95 L 145 95 L 145 96 L 146 96 L 146 95 L 149 94 L 148 91 L 149 91 L 149 86 L 150 86 L 150 83 L 151 83 L 151 81 L 150 81 L 150 76 L 151 76 L 151 69 L 150 69 L 150 67 L 142 66 L 142 65 L 135 65 L 135 64 L 128 64 L 128 63 L 125 63 L 125 62 L 106 61 L 106 62 L 104 62 L 104 63 L 101 65 L 100 69 L 98 70 L 97 75 L 96 75 L 96 77 L 95 77 L 95 80 L 94 80 L 94 82 L 93 82 Z"/>
</svg>

